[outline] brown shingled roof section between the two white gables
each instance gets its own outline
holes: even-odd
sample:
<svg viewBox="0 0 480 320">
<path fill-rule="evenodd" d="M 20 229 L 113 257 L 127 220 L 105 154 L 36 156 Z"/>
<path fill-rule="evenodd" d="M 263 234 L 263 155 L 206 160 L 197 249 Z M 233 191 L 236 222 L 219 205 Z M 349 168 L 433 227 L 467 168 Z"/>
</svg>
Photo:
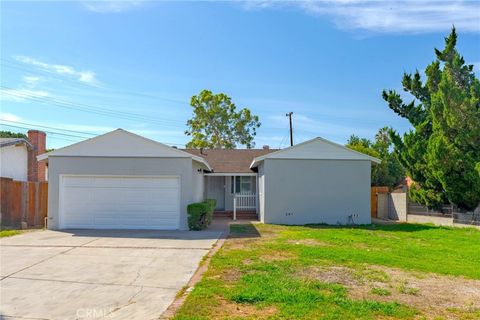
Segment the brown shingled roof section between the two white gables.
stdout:
<svg viewBox="0 0 480 320">
<path fill-rule="evenodd" d="M 184 149 L 186 152 L 204 158 L 215 173 L 251 173 L 250 163 L 255 157 L 263 156 L 278 149 Z"/>
</svg>

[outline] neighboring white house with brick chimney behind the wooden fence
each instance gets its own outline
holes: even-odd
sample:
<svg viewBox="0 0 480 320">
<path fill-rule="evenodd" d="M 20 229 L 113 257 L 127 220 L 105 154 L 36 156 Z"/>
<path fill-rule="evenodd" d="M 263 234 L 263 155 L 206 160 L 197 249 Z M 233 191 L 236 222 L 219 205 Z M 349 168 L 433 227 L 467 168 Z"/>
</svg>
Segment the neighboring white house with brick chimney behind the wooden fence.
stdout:
<svg viewBox="0 0 480 320">
<path fill-rule="evenodd" d="M 45 181 L 45 163 L 37 161 L 45 148 L 46 134 L 38 130 L 29 130 L 28 139 L 0 138 L 0 176 L 19 181 Z"/>
</svg>

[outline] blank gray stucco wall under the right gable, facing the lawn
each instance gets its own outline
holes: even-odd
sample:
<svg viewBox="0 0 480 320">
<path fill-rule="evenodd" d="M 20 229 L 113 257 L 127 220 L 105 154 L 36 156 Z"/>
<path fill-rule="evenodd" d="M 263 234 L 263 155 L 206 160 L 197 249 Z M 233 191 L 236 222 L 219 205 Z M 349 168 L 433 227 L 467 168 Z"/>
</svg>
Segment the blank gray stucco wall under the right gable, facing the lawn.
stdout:
<svg viewBox="0 0 480 320">
<path fill-rule="evenodd" d="M 367 224 L 370 161 L 266 159 L 264 222 Z"/>
</svg>

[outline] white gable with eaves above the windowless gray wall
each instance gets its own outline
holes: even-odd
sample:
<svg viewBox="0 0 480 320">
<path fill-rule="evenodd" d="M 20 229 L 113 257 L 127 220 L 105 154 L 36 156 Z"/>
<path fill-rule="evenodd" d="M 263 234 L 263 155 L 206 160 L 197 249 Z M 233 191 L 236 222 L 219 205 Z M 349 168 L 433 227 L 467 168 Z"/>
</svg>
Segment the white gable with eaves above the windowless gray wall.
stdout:
<svg viewBox="0 0 480 320">
<path fill-rule="evenodd" d="M 255 168 L 265 159 L 319 159 L 319 160 L 370 160 L 380 163 L 377 158 L 349 149 L 340 144 L 317 137 L 294 146 L 256 157 L 250 164 Z"/>
</svg>

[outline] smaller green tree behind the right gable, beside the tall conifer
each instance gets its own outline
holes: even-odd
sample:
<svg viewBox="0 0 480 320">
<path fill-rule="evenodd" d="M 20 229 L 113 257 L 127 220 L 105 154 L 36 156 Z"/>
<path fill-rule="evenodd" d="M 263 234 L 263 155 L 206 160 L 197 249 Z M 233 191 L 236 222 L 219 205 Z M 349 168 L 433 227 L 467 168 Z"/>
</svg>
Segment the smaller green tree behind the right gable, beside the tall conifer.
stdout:
<svg viewBox="0 0 480 320">
<path fill-rule="evenodd" d="M 380 164 L 372 167 L 372 185 L 394 188 L 405 177 L 405 170 L 390 150 L 392 141 L 388 131 L 386 127 L 381 128 L 375 135 L 374 142 L 352 135 L 348 139 L 347 147 L 382 160 Z"/>
</svg>

